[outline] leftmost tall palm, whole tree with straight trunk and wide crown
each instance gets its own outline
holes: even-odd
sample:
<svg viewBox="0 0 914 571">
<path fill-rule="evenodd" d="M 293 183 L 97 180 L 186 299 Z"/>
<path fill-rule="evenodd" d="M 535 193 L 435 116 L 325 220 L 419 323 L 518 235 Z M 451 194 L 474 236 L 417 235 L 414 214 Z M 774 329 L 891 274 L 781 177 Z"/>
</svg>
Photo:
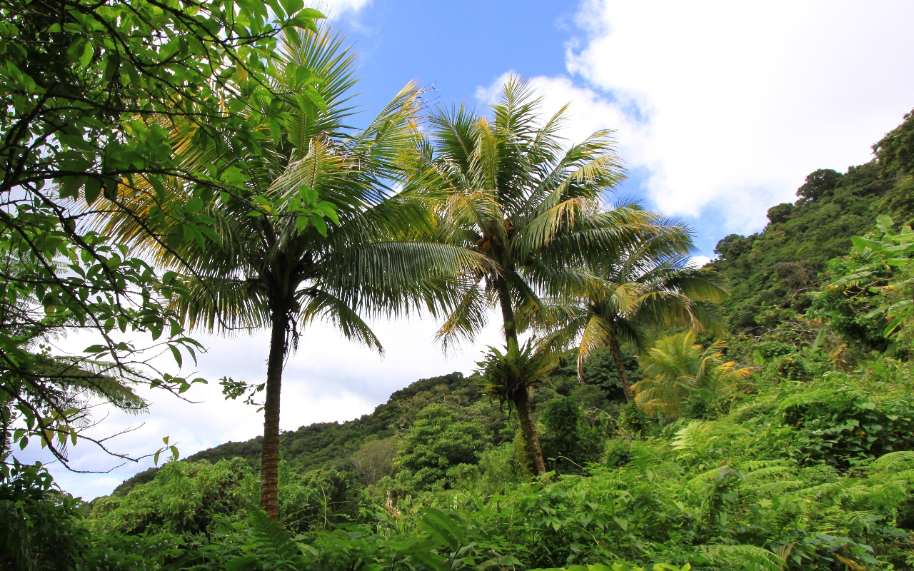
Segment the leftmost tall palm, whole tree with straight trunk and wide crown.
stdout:
<svg viewBox="0 0 914 571">
<path fill-rule="evenodd" d="M 224 143 L 235 153 L 245 189 L 201 205 L 215 221 L 220 246 L 203 239 L 176 248 L 164 248 L 161 239 L 138 244 L 165 267 L 191 270 L 191 300 L 178 302 L 191 327 L 271 331 L 260 507 L 273 519 L 282 366 L 297 347 L 300 328 L 327 320 L 346 338 L 382 351 L 362 315 L 393 316 L 419 307 L 434 313 L 452 299 L 449 283 L 459 270 L 489 268 L 463 248 L 420 241 L 433 228 L 428 200 L 410 187 L 392 190 L 409 182 L 419 156 L 415 85 L 400 91 L 364 131 L 349 134 L 344 121 L 353 113 L 356 79 L 354 54 L 342 41 L 326 28 L 285 37 L 285 67 L 273 85 L 286 94 L 279 114 L 284 119 L 265 130 L 260 151 Z M 215 152 L 214 145 L 189 140 L 176 145 L 191 171 L 211 163 Z M 186 187 L 171 192 L 177 199 L 192 196 Z M 154 193 L 135 200 L 134 212 L 154 207 Z M 110 224 L 123 237 L 144 239 L 134 219 Z M 175 228 L 178 222 L 166 220 L 155 233 L 172 236 Z"/>
</svg>

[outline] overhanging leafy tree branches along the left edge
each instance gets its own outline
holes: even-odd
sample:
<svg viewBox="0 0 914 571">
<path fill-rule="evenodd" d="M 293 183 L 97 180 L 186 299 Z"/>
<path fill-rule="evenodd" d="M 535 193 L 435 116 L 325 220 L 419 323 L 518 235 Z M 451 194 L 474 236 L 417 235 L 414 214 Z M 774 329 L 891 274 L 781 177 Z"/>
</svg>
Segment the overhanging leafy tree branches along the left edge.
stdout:
<svg viewBox="0 0 914 571">
<path fill-rule="evenodd" d="M 75 444 L 80 426 L 90 424 L 86 395 L 136 409 L 142 404 L 131 383 L 176 393 L 189 386 L 144 367 L 142 347 L 114 338 L 152 333 L 158 344 L 150 349 L 171 350 L 180 365 L 182 350 L 198 348 L 165 310 L 182 284 L 157 275 L 148 260 L 130 256 L 86 219 L 102 195 L 106 207 L 137 216 L 122 197 L 159 188 L 164 175 L 198 185 L 204 195 L 226 184 L 222 161 L 209 170 L 176 164 L 168 129 L 196 120 L 211 128 L 187 131 L 188 138 L 215 140 L 230 130 L 251 141 L 248 123 L 222 104 L 241 99 L 232 82 L 250 77 L 246 95 L 275 100 L 267 76 L 276 35 L 314 28 L 323 17 L 300 4 L 271 6 L 272 15 L 262 5 L 235 2 L 0 5 L 4 442 L 40 440 L 66 466 L 66 441 Z M 207 231 L 194 205 L 160 200 L 157 208 L 190 235 Z M 61 359 L 51 340 L 72 331 L 95 333 L 96 343 L 80 357 Z"/>
</svg>

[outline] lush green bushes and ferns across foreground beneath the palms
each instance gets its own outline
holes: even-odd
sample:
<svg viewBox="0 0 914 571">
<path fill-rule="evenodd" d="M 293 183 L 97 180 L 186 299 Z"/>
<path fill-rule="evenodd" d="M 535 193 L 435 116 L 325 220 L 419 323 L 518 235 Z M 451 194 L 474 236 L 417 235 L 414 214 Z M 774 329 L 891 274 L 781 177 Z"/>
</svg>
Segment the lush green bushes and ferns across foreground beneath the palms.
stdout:
<svg viewBox="0 0 914 571">
<path fill-rule="evenodd" d="M 73 536 L 85 538 L 68 552 L 69 565 L 908 569 L 914 451 L 909 408 L 902 408 L 912 383 L 909 365 L 881 363 L 881 373 L 867 366 L 813 382 L 766 374 L 724 416 L 686 416 L 665 426 L 642 418 L 637 432 L 590 426 L 574 400 L 561 397 L 544 411 L 547 449 L 566 447 L 571 454 L 556 456 L 572 460 L 586 451 L 575 447 L 586 444 L 587 431 L 604 430 L 602 451 L 591 456 L 596 461 L 572 466 L 580 473 L 551 473 L 542 481 L 517 469 L 514 443 L 484 439 L 476 439 L 482 448 L 464 450 L 472 457 L 457 459 L 472 470 L 439 474 L 446 487 L 414 481 L 409 488 L 393 479 L 364 487 L 345 466 L 284 470 L 279 523 L 254 507 L 257 478 L 246 462 L 173 462 L 125 496 L 94 502 L 84 521 L 79 509 L 67 508 L 69 525 L 79 531 Z M 430 408 L 417 417 L 415 434 L 404 437 L 412 444 L 401 449 L 398 463 L 434 456 L 418 450 L 443 447 L 443 457 L 449 446 L 460 448 L 456 435 L 447 446 L 419 438 L 423 422 L 468 422 Z M 23 513 L 40 513 L 42 501 L 74 502 L 44 490 L 44 500 L 20 504 Z M 30 533 L 34 545 L 47 541 L 37 529 Z"/>
</svg>

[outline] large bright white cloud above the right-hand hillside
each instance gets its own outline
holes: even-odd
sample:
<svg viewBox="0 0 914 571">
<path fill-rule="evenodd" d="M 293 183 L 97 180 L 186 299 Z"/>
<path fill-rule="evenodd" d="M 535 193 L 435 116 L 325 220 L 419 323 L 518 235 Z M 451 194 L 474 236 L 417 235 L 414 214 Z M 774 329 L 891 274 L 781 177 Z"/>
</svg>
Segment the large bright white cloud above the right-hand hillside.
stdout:
<svg viewBox="0 0 914 571">
<path fill-rule="evenodd" d="M 578 81 L 535 81 L 573 101 L 574 138 L 618 130 L 654 206 L 747 232 L 805 174 L 868 161 L 914 107 L 912 18 L 898 1 L 590 1 L 567 55 Z"/>
</svg>

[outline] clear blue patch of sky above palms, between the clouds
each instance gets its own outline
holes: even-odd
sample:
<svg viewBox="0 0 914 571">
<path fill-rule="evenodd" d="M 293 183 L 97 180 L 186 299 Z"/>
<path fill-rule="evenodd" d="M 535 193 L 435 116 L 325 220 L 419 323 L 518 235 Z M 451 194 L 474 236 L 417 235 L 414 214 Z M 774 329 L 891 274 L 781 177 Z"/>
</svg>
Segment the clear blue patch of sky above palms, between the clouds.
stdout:
<svg viewBox="0 0 914 571">
<path fill-rule="evenodd" d="M 368 99 L 379 103 L 418 79 L 442 101 L 473 101 L 506 69 L 564 73 L 574 14 L 563 2 L 402 0 L 374 2 L 343 21 L 362 54 Z"/>
</svg>

